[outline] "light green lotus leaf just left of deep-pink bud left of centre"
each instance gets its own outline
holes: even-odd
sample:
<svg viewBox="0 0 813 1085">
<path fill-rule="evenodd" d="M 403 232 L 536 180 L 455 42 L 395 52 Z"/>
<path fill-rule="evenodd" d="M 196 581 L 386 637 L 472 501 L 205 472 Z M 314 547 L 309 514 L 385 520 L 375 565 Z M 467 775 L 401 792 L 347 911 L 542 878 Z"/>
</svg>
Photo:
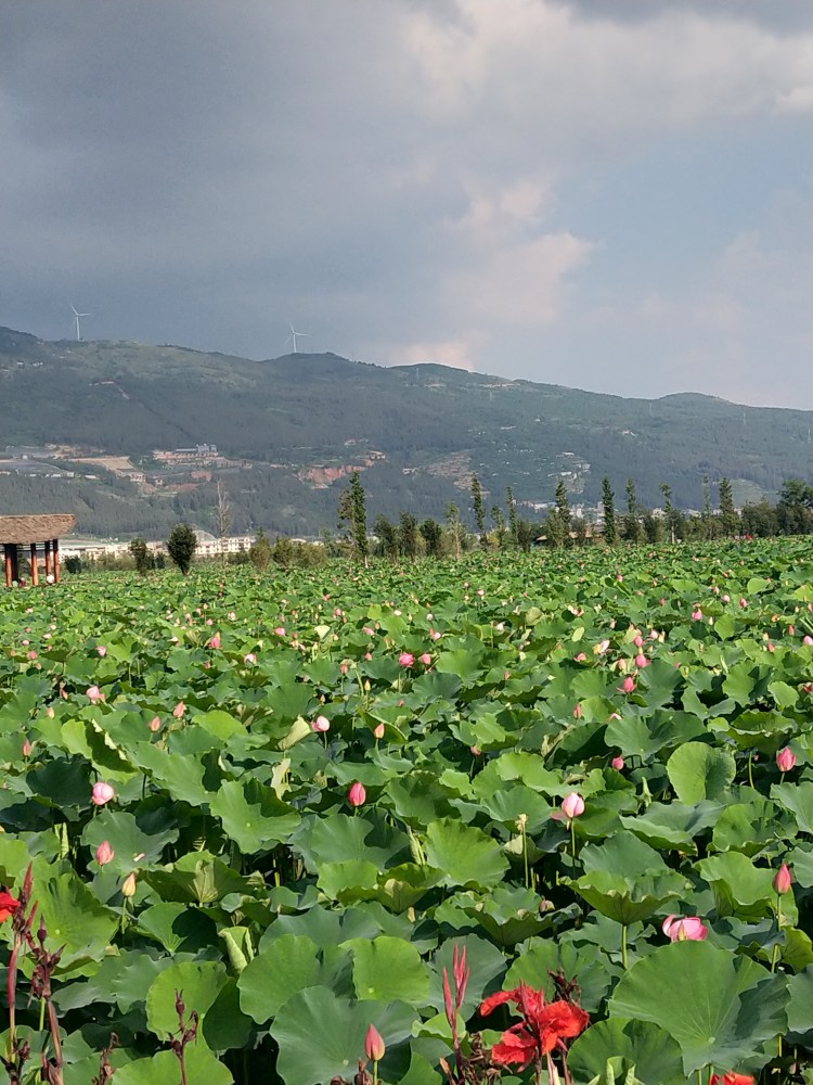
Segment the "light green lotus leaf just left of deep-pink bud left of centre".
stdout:
<svg viewBox="0 0 813 1085">
<path fill-rule="evenodd" d="M 244 855 L 287 840 L 299 825 L 299 813 L 257 780 L 228 780 L 211 799 L 210 809 L 225 834 Z"/>
</svg>

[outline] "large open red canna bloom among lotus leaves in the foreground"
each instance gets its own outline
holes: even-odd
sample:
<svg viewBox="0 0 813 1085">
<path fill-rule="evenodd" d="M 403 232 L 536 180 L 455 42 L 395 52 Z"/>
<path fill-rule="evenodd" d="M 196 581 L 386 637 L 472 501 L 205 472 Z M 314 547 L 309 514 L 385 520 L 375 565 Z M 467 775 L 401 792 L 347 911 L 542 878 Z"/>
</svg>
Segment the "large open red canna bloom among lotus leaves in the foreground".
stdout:
<svg viewBox="0 0 813 1085">
<path fill-rule="evenodd" d="M 545 1004 L 544 992 L 525 983 L 514 991 L 491 995 L 480 1006 L 480 1013 L 486 1017 L 503 1003 L 514 1003 L 522 1014 L 522 1022 L 506 1030 L 492 1048 L 492 1059 L 502 1065 L 527 1067 L 554 1048 L 564 1047 L 564 1041 L 578 1036 L 590 1023 L 579 1006 L 564 999 Z"/>
</svg>

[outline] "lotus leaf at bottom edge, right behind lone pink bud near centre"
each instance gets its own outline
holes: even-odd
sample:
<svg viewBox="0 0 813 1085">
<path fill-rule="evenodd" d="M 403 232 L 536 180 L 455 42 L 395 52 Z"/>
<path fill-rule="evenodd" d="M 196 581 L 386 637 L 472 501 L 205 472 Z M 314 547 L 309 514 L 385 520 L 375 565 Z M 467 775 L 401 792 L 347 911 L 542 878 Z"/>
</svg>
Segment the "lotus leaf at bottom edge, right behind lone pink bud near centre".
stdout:
<svg viewBox="0 0 813 1085">
<path fill-rule="evenodd" d="M 387 1045 L 378 1073 L 384 1081 L 398 1081 L 406 1070 L 408 1041 L 416 1019 L 416 1011 L 404 1003 L 356 1003 L 326 987 L 306 987 L 271 1023 L 279 1047 L 276 1071 L 285 1085 L 323 1085 L 336 1076 L 352 1077 L 373 1024 Z"/>
</svg>

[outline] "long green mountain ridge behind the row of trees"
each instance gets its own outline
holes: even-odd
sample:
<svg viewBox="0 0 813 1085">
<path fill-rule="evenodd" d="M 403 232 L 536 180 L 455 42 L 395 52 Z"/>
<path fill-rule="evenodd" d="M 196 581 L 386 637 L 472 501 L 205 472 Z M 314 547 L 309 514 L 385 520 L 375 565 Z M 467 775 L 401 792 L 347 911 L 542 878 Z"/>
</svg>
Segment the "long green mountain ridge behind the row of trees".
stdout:
<svg viewBox="0 0 813 1085">
<path fill-rule="evenodd" d="M 570 367 L 568 379 L 578 378 Z M 358 469 L 367 513 L 469 513 L 486 505 L 541 519 L 564 478 L 593 506 L 699 508 L 702 478 L 737 503 L 813 481 L 813 412 L 698 394 L 630 399 L 439 365 L 382 367 L 334 354 L 266 361 L 179 346 L 48 342 L 0 328 L 0 510 L 70 511 L 82 532 L 160 535 L 179 519 L 212 529 L 218 480 L 235 532 L 335 527 Z"/>
</svg>

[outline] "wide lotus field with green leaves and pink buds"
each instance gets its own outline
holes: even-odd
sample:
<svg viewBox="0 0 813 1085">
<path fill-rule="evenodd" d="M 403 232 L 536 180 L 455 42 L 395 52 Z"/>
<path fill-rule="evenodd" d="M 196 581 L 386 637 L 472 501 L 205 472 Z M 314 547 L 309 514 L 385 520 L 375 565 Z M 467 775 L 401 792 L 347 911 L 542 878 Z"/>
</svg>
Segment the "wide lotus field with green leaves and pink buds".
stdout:
<svg viewBox="0 0 813 1085">
<path fill-rule="evenodd" d="M 0 595 L 0 1081 L 812 1082 L 808 540 Z"/>
</svg>

